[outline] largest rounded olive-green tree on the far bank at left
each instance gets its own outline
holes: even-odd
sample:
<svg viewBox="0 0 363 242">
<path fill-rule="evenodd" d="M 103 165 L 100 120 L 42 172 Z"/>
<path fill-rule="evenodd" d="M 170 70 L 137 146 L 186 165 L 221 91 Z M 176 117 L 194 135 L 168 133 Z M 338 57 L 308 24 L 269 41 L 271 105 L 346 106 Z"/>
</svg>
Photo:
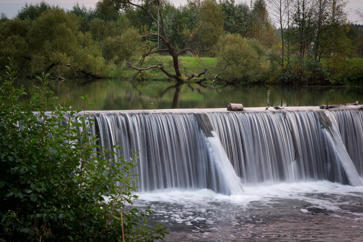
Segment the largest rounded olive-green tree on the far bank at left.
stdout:
<svg viewBox="0 0 363 242">
<path fill-rule="evenodd" d="M 86 34 L 78 32 L 77 16 L 65 13 L 64 9 L 53 8 L 43 12 L 29 27 L 27 42 L 32 61 L 30 73 L 43 71 L 60 73 L 74 67 L 86 75 L 101 76 L 102 58 L 93 43 L 85 41 Z M 86 45 L 88 43 L 89 45 Z"/>
</svg>

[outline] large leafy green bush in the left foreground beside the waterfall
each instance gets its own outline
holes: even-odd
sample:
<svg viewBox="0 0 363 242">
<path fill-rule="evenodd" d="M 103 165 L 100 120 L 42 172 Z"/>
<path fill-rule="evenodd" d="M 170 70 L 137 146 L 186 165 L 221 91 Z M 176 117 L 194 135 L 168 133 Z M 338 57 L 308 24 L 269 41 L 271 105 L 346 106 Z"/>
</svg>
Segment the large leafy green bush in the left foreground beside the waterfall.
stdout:
<svg viewBox="0 0 363 242">
<path fill-rule="evenodd" d="M 0 86 L 0 241 L 162 239 L 165 228 L 148 225 L 150 208 L 132 207 L 138 198 L 135 155 L 110 158 L 119 146 L 95 152 L 92 120 L 49 102 L 48 75 L 38 77 L 41 89 L 19 102 L 25 92 L 13 87 L 11 66 Z M 47 106 L 53 111 L 45 112 Z"/>
</svg>

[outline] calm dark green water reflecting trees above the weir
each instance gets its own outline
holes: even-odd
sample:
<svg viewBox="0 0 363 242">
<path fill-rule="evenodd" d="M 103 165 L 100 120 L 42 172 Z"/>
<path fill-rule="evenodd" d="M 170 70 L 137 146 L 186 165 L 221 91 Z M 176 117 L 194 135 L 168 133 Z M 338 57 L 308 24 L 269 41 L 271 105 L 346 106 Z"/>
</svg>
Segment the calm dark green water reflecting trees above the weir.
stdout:
<svg viewBox="0 0 363 242">
<path fill-rule="evenodd" d="M 20 80 L 26 90 L 36 81 Z M 271 106 L 319 106 L 321 104 L 363 102 L 363 87 L 304 87 L 278 85 L 234 86 L 218 83 L 176 84 L 174 82 L 135 82 L 114 79 L 50 80 L 49 89 L 58 97 L 56 104 L 74 100 L 75 108 L 83 108 L 79 96 L 88 95 L 95 106 L 88 110 L 134 110 L 168 108 L 223 108 L 228 103 L 242 103 L 244 107 L 265 107 L 270 90 Z"/>
</svg>

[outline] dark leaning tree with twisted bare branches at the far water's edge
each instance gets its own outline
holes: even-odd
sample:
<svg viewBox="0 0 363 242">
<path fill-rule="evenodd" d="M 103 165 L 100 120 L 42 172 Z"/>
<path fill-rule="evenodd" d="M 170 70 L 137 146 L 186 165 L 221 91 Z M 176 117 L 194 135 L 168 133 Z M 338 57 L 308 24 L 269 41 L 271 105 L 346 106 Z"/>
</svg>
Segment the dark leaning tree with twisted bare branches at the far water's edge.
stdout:
<svg viewBox="0 0 363 242">
<path fill-rule="evenodd" d="M 196 26 L 196 28 L 194 29 L 194 31 L 192 33 L 190 33 L 189 36 L 185 36 L 183 35 L 179 30 L 178 33 L 181 35 L 181 37 L 183 37 L 187 42 L 188 45 L 187 47 L 178 50 L 175 49 L 175 47 L 172 45 L 172 42 L 170 41 L 168 34 L 167 34 L 167 30 L 166 30 L 166 26 L 164 24 L 164 18 L 163 18 L 163 14 L 162 11 L 160 9 L 162 9 L 163 7 L 163 3 L 160 0 L 157 1 L 142 1 L 139 4 L 136 4 L 134 2 L 131 1 L 123 1 L 123 0 L 117 0 L 117 1 L 112 1 L 111 3 L 114 4 L 115 8 L 119 9 L 121 7 L 123 7 L 123 9 L 127 9 L 130 8 L 130 6 L 135 7 L 136 9 L 141 9 L 144 13 L 147 14 L 147 16 L 156 24 L 156 26 L 158 27 L 158 33 L 156 32 L 149 32 L 147 34 L 144 34 L 143 36 L 141 36 L 142 38 L 145 38 L 146 40 L 150 37 L 154 37 L 156 39 L 156 37 L 158 38 L 158 40 L 156 42 L 145 42 L 144 44 L 147 45 L 149 48 L 147 50 L 146 53 L 143 54 L 142 59 L 139 61 L 139 63 L 134 66 L 132 65 L 131 62 L 127 62 L 127 65 L 135 70 L 138 70 L 138 73 L 136 75 L 138 75 L 141 71 L 143 70 L 150 70 L 153 68 L 158 68 L 161 71 L 163 71 L 163 73 L 165 75 L 167 75 L 167 77 L 169 78 L 174 78 L 176 79 L 176 81 L 178 82 L 184 82 L 185 78 L 183 78 L 183 75 L 180 71 L 180 67 L 179 67 L 179 61 L 178 61 L 178 56 L 180 56 L 181 54 L 189 51 L 191 53 L 193 53 L 193 55 L 198 56 L 201 52 L 206 51 L 206 49 L 198 49 L 196 48 L 196 46 L 194 45 L 194 41 L 196 40 L 196 36 L 198 34 L 198 27 L 202 27 L 200 26 Z M 212 2 L 211 0 L 205 0 L 203 1 L 202 4 L 207 4 L 208 6 L 213 6 L 213 7 L 217 7 L 217 5 Z M 219 11 L 219 8 L 216 8 L 216 11 Z M 220 14 L 217 14 L 217 16 L 221 16 Z M 213 26 L 215 26 L 215 21 L 213 20 L 214 16 L 213 15 L 208 15 L 207 17 L 209 17 L 208 19 L 204 19 L 204 17 L 200 17 L 199 22 L 204 23 L 206 26 L 203 26 L 203 28 L 200 28 L 201 31 L 205 31 L 205 34 L 211 34 L 209 37 L 213 36 L 213 32 L 212 29 Z M 220 22 L 222 22 L 223 20 L 221 20 Z M 175 25 L 176 26 L 176 25 Z M 208 44 L 212 44 L 213 41 L 209 42 Z M 203 43 L 202 43 L 203 44 Z M 205 44 L 205 43 L 204 43 Z M 159 46 L 162 46 L 160 49 Z M 205 46 L 205 45 L 204 45 Z M 170 56 L 172 57 L 173 60 L 173 67 L 174 67 L 174 73 L 171 73 L 170 71 L 168 71 L 167 69 L 164 68 L 164 66 L 162 64 L 156 64 L 156 65 L 150 65 L 150 66 L 145 66 L 145 67 L 138 67 L 141 66 L 143 61 L 145 60 L 145 58 L 147 56 L 150 56 L 151 54 L 154 53 L 167 53 L 170 54 Z M 190 75 L 188 78 L 191 79 L 193 77 L 200 77 L 201 75 L 204 75 L 205 71 L 199 73 L 199 74 L 192 74 Z M 135 77 L 136 77 L 135 75 Z"/>
</svg>

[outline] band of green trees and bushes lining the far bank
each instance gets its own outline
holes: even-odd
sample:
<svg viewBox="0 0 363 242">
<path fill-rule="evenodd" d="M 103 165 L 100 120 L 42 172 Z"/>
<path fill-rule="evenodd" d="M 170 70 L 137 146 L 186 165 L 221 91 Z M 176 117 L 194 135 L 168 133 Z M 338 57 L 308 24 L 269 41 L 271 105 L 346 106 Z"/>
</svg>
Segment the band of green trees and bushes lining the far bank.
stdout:
<svg viewBox="0 0 363 242">
<path fill-rule="evenodd" d="M 25 4 L 13 19 L 2 13 L 0 66 L 11 57 L 29 77 L 73 75 L 70 64 L 77 75 L 107 77 L 110 68 L 142 67 L 172 45 L 178 53 L 215 57 L 216 66 L 205 70 L 214 68 L 229 82 L 363 85 L 357 59 L 363 57 L 363 26 L 347 21 L 342 0 L 139 4 L 103 0 L 95 8 L 76 3 L 65 10 L 41 1 Z"/>
</svg>

